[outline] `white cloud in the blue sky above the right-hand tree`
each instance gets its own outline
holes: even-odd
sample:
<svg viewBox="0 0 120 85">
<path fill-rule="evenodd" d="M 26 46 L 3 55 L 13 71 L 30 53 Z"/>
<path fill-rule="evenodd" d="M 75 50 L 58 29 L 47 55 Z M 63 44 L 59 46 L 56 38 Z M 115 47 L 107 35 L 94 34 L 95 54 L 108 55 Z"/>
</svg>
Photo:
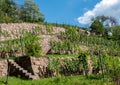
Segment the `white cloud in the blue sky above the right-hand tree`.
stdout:
<svg viewBox="0 0 120 85">
<path fill-rule="evenodd" d="M 120 18 L 120 0 L 102 0 L 95 5 L 92 10 L 88 10 L 78 18 L 81 24 L 89 24 L 91 18 L 95 16 L 112 16 Z"/>
</svg>

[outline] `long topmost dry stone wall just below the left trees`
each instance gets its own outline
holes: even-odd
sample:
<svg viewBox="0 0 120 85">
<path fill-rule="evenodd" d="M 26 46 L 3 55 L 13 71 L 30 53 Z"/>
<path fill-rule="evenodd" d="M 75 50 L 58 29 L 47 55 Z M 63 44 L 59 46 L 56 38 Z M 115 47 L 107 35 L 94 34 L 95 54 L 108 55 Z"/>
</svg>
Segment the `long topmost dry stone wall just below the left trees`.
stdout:
<svg viewBox="0 0 120 85">
<path fill-rule="evenodd" d="M 53 27 L 46 26 L 41 24 L 33 24 L 33 23 L 3 23 L 0 24 L 0 28 L 4 35 L 1 36 L 1 40 L 9 40 L 19 38 L 22 33 L 22 30 L 32 31 L 35 28 L 41 29 L 41 34 L 58 34 L 60 32 L 64 32 L 65 28 L 62 27 Z"/>
</svg>

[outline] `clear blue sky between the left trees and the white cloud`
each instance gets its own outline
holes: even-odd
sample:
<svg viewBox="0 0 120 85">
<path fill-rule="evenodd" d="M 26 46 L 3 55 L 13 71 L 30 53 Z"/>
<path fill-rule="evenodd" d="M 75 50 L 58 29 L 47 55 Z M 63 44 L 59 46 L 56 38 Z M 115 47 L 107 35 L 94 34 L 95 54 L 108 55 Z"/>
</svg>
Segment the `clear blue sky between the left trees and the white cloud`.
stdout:
<svg viewBox="0 0 120 85">
<path fill-rule="evenodd" d="M 35 0 L 47 22 L 80 25 L 77 18 L 87 9 L 92 9 L 98 0 Z"/>
</svg>

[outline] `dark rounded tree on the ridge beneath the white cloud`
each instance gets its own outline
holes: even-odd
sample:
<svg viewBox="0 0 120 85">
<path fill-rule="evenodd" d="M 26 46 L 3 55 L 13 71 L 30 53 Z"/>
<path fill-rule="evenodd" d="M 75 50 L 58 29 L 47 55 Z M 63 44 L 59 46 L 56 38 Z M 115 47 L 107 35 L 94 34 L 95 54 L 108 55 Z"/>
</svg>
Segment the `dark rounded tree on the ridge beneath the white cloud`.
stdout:
<svg viewBox="0 0 120 85">
<path fill-rule="evenodd" d="M 104 37 L 108 37 L 112 31 L 111 27 L 117 25 L 117 20 L 114 17 L 104 15 L 92 18 L 92 21 L 90 26 L 91 32 L 98 35 L 102 34 Z"/>
</svg>

